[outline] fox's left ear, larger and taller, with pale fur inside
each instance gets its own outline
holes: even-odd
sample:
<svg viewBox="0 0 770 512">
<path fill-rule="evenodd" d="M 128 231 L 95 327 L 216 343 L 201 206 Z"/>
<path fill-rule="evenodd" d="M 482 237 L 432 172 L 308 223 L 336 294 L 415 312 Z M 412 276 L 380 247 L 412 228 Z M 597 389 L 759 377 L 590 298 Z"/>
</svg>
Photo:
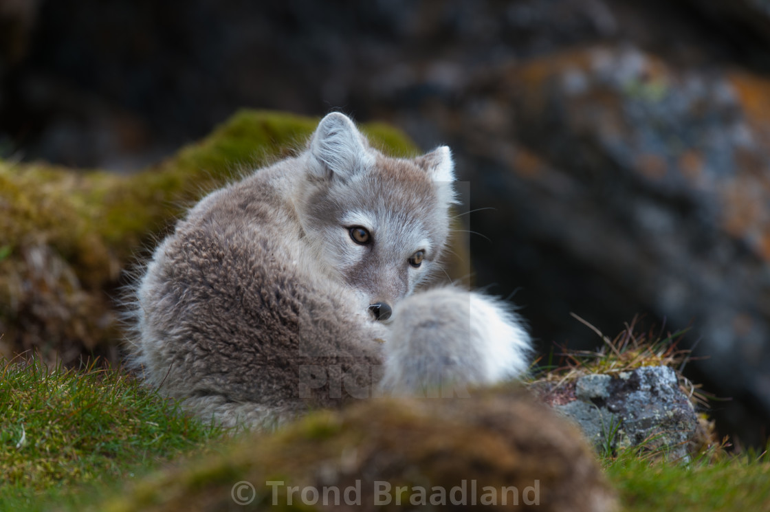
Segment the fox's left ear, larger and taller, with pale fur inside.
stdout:
<svg viewBox="0 0 770 512">
<path fill-rule="evenodd" d="M 344 114 L 332 112 L 318 123 L 310 139 L 310 153 L 316 159 L 319 176 L 350 178 L 367 166 L 372 157 L 367 142 Z"/>
</svg>

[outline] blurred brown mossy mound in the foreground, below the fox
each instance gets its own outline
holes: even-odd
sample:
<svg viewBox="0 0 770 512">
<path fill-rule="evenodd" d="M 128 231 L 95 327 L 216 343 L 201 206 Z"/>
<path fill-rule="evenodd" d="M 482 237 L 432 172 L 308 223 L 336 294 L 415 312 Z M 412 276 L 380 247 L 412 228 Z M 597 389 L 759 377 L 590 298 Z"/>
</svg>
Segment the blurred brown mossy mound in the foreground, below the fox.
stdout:
<svg viewBox="0 0 770 512">
<path fill-rule="evenodd" d="M 503 494 L 521 510 L 614 510 L 614 493 L 572 425 L 514 387 L 473 398 L 372 399 L 311 413 L 149 475 L 97 510 L 317 510 L 345 507 L 346 497 L 360 510 L 423 500 L 460 510 L 501 505 Z"/>
</svg>

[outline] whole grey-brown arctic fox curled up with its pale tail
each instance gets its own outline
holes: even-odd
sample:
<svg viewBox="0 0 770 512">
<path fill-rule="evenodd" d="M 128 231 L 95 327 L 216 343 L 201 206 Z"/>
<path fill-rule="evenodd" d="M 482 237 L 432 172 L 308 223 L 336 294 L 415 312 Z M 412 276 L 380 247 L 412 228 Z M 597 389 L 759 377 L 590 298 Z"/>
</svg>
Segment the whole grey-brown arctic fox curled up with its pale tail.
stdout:
<svg viewBox="0 0 770 512">
<path fill-rule="evenodd" d="M 199 416 L 255 426 L 521 375 L 515 313 L 453 286 L 415 293 L 440 269 L 453 180 L 447 147 L 389 158 L 326 115 L 303 152 L 209 194 L 158 246 L 132 362 Z"/>
</svg>

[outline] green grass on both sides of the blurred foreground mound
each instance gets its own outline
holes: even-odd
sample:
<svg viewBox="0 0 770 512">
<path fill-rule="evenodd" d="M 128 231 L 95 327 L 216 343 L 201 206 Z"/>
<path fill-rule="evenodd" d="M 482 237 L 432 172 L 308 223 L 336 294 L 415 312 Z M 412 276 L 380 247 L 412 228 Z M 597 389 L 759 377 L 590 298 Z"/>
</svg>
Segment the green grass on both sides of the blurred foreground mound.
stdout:
<svg viewBox="0 0 770 512">
<path fill-rule="evenodd" d="M 124 370 L 0 363 L 0 510 L 94 507 L 175 457 L 225 450 L 226 438 Z M 770 511 L 767 454 L 715 450 L 684 464 L 640 453 L 600 457 L 622 510 Z"/>
</svg>

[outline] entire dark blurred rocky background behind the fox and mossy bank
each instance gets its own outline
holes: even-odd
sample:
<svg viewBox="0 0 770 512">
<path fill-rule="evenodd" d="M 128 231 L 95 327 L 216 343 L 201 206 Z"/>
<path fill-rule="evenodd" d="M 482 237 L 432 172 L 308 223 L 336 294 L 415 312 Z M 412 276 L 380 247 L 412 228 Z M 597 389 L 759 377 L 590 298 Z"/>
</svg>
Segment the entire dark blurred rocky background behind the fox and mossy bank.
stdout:
<svg viewBox="0 0 770 512">
<path fill-rule="evenodd" d="M 767 437 L 767 0 L 0 0 L 2 158 L 132 172 L 244 106 L 449 144 L 541 350 L 692 326 L 721 429 Z"/>
</svg>

